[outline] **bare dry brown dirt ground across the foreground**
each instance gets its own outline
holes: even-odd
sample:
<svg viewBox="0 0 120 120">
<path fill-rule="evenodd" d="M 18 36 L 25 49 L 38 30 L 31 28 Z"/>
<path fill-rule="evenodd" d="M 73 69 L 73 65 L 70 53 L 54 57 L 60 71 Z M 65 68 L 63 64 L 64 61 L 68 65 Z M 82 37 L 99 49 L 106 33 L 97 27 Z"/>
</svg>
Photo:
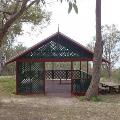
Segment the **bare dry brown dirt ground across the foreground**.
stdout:
<svg viewBox="0 0 120 120">
<path fill-rule="evenodd" d="M 120 120 L 120 95 L 103 98 L 82 102 L 75 97 L 1 96 L 0 120 Z"/>
</svg>

